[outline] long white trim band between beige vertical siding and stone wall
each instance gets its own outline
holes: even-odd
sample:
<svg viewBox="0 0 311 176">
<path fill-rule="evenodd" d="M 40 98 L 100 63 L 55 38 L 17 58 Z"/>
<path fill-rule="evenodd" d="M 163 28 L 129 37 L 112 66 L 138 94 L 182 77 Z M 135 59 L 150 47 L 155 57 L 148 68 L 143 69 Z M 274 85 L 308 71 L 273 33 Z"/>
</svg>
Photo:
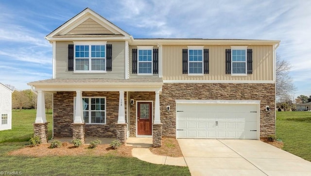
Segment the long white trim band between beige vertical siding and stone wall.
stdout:
<svg viewBox="0 0 311 176">
<path fill-rule="evenodd" d="M 163 83 L 276 83 L 274 80 L 163 80 Z"/>
</svg>

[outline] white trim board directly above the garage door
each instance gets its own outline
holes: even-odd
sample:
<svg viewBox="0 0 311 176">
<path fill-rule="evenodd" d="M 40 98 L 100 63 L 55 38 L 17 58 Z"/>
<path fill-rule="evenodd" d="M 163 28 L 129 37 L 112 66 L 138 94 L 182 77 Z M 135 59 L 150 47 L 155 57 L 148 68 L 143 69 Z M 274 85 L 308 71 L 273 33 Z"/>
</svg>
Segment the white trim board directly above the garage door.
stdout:
<svg viewBox="0 0 311 176">
<path fill-rule="evenodd" d="M 260 100 L 187 100 L 176 99 L 176 104 L 260 104 Z"/>
</svg>

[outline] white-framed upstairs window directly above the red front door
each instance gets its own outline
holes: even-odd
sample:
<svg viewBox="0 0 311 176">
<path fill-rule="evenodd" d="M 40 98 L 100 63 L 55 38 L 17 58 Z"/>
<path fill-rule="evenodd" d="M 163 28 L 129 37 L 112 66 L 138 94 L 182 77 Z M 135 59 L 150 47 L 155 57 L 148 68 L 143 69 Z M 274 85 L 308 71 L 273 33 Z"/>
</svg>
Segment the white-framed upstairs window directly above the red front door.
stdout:
<svg viewBox="0 0 311 176">
<path fill-rule="evenodd" d="M 153 75 L 153 47 L 137 47 L 137 75 Z"/>
</svg>

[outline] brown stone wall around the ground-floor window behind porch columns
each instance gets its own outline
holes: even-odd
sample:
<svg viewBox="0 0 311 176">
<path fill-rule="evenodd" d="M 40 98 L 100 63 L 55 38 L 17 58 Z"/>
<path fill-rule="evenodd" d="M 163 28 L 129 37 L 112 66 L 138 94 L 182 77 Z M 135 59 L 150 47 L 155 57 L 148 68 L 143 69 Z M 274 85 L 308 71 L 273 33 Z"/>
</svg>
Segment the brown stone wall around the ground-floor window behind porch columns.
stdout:
<svg viewBox="0 0 311 176">
<path fill-rule="evenodd" d="M 85 125 L 86 137 L 116 137 L 119 112 L 119 92 L 83 92 L 82 96 L 106 97 L 106 124 Z M 75 92 L 57 92 L 53 97 L 54 137 L 72 137 L 73 97 Z M 126 112 L 126 93 L 124 95 Z M 125 114 L 126 116 L 126 114 Z M 125 117 L 126 118 L 126 117 Z"/>
</svg>

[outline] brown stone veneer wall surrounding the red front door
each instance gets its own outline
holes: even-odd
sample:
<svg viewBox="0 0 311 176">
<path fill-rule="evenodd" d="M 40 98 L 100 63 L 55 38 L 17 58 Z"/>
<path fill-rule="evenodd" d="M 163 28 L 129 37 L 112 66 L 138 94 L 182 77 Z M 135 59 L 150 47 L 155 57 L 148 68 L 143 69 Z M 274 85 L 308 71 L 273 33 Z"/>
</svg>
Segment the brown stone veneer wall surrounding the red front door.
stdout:
<svg viewBox="0 0 311 176">
<path fill-rule="evenodd" d="M 134 105 L 130 106 L 130 137 L 136 137 L 136 102 L 137 101 L 152 101 L 153 112 L 152 122 L 154 122 L 155 114 L 155 92 L 130 92 L 130 99 L 134 99 Z"/>
</svg>

